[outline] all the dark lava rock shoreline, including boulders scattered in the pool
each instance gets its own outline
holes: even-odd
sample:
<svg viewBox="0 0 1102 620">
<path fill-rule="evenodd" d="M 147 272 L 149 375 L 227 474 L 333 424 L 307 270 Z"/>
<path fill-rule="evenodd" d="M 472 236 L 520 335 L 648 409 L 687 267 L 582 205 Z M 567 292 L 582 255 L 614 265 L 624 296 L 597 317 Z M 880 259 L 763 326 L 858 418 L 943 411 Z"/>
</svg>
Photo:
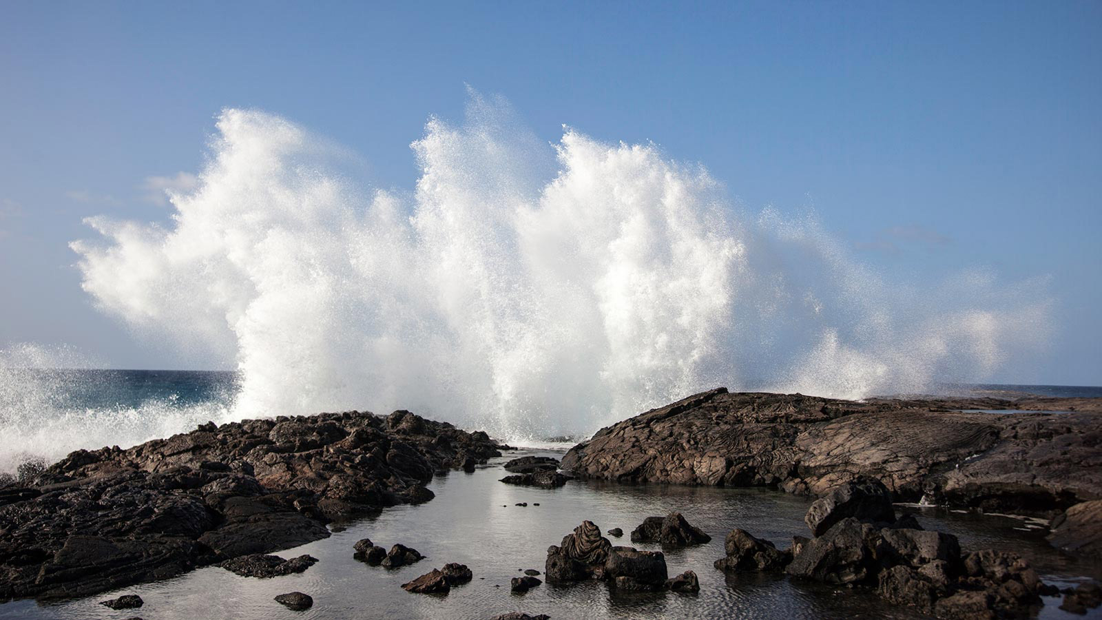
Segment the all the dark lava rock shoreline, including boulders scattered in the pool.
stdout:
<svg viewBox="0 0 1102 620">
<path fill-rule="evenodd" d="M 860 586 L 943 617 L 972 617 L 968 606 L 982 601 L 992 613 L 1017 614 L 1036 606 L 1041 591 L 1035 575 L 1023 573 L 1028 567 L 1003 556 L 973 558 L 946 542 L 947 535 L 918 533 L 914 520 L 896 520 L 892 501 L 1044 515 L 1052 519 L 1055 546 L 1098 557 L 1100 405 L 993 398 L 853 403 L 720 388 L 604 428 L 561 463 L 547 457 L 509 461 L 505 469 L 512 475 L 501 482 L 553 489 L 573 475 L 818 495 L 807 515 L 810 538 L 796 536 L 789 549 L 778 550 L 734 531 L 715 567 Z M 961 411 L 1030 406 L 1076 410 Z M 0 480 L 0 601 L 88 596 L 212 564 L 262 578 L 305 570 L 314 558 L 264 554 L 324 538 L 331 521 L 431 500 L 425 483 L 434 474 L 473 471 L 507 449 L 485 432 L 409 411 L 352 411 L 207 424 L 127 450 L 78 450 L 51 467 Z M 674 512 L 648 517 L 630 538 L 668 548 L 710 537 Z M 911 557 L 911 547 L 933 550 Z M 399 555 L 420 558 L 400 544 L 388 554 L 369 539 L 354 550 L 357 559 L 383 567 L 399 565 Z M 415 559 L 401 564 L 409 562 Z M 468 573 L 445 564 L 406 586 L 441 594 L 468 581 Z M 512 591 L 538 586 L 534 575 L 514 579 Z M 671 578 L 661 552 L 613 546 L 590 522 L 549 549 L 545 578 L 560 585 L 606 580 L 625 591 L 700 588 L 692 570 Z M 1074 596 L 1072 603 L 1093 601 L 1091 592 Z M 302 592 L 281 597 L 292 609 L 312 605 Z"/>
</svg>

